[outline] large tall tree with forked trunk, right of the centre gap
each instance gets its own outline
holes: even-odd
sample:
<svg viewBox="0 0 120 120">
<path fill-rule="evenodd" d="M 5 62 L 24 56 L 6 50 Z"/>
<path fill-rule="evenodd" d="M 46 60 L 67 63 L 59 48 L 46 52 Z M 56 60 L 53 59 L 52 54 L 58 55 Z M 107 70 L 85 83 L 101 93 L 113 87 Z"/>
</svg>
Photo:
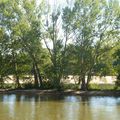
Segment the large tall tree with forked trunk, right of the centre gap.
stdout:
<svg viewBox="0 0 120 120">
<path fill-rule="evenodd" d="M 118 14 L 115 14 L 115 5 L 114 1 L 106 2 L 105 0 L 102 2 L 75 1 L 71 12 L 73 19 L 70 20 L 78 52 L 77 64 L 79 66 L 79 77 L 82 81 L 82 90 L 88 88 L 89 81 L 94 73 L 94 67 L 99 62 L 100 56 L 105 52 L 101 50 L 104 50 L 107 46 L 108 36 L 111 35 L 110 31 L 115 31 L 115 20 L 118 17 Z M 86 76 L 87 82 L 85 82 Z"/>
</svg>

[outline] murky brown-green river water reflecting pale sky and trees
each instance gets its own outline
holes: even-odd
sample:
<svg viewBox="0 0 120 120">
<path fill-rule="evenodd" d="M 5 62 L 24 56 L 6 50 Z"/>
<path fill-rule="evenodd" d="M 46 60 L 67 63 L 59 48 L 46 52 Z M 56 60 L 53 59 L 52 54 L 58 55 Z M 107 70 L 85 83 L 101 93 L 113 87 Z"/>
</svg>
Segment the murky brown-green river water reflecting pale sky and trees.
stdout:
<svg viewBox="0 0 120 120">
<path fill-rule="evenodd" d="M 120 97 L 0 95 L 0 120 L 120 120 Z"/>
</svg>

